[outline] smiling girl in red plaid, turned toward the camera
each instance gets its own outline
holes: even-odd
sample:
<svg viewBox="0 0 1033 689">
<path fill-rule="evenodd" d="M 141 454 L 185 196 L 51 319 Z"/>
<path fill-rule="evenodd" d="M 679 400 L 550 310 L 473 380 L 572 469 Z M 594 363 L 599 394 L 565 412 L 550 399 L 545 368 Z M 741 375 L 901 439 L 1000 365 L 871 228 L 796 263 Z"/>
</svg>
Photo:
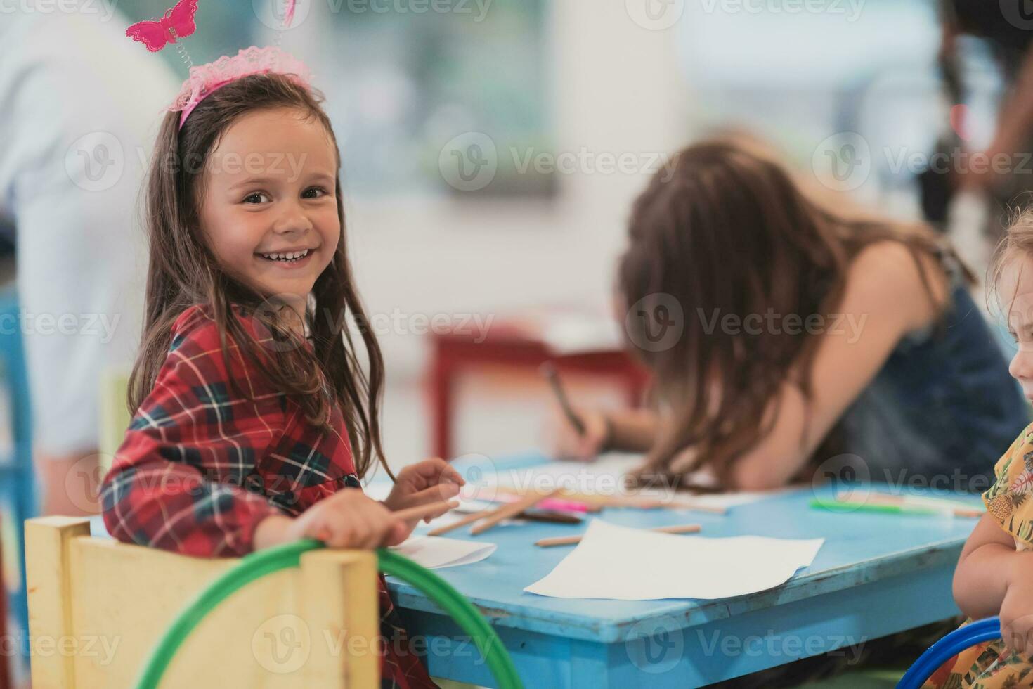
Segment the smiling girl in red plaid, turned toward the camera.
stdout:
<svg viewBox="0 0 1033 689">
<path fill-rule="evenodd" d="M 386 469 L 383 364 L 361 328 L 363 371 L 344 317 L 366 322 L 334 130 L 304 65 L 272 56 L 284 73 L 217 86 L 169 113 L 158 136 L 133 418 L 101 491 L 104 524 L 125 542 L 198 557 L 300 538 L 374 549 L 416 525 L 393 510 L 446 504 L 464 482 L 428 460 L 382 503 L 363 493 L 374 463 Z M 382 575 L 379 601 L 384 686 L 435 686 Z"/>
</svg>

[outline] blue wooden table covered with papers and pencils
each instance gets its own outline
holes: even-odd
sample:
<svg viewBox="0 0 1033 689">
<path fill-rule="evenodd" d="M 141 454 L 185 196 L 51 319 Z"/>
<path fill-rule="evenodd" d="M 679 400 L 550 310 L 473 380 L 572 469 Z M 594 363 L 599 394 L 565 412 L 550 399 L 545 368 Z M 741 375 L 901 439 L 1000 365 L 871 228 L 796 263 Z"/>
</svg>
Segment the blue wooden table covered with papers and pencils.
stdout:
<svg viewBox="0 0 1033 689">
<path fill-rule="evenodd" d="M 544 461 L 523 456 L 494 464 Z M 556 524 L 496 528 L 479 536 L 453 531 L 457 538 L 498 543 L 498 550 L 481 562 L 437 573 L 488 618 L 529 688 L 684 689 L 828 651 L 853 657 L 867 640 L 959 614 L 951 575 L 976 520 L 834 513 L 809 506 L 814 497 L 832 495 L 832 487 L 807 488 L 731 507 L 724 516 L 665 509 L 599 513 L 644 528 L 699 523 L 706 536 L 825 538 L 810 567 L 784 586 L 749 596 L 620 601 L 525 593 L 524 587 L 549 573 L 572 547 L 541 549 L 534 541 L 584 529 Z M 981 505 L 978 496 L 965 499 Z M 431 675 L 494 686 L 479 653 L 451 620 L 411 586 L 390 577 L 388 586 L 410 634 L 418 638 L 416 652 L 427 654 Z"/>
</svg>

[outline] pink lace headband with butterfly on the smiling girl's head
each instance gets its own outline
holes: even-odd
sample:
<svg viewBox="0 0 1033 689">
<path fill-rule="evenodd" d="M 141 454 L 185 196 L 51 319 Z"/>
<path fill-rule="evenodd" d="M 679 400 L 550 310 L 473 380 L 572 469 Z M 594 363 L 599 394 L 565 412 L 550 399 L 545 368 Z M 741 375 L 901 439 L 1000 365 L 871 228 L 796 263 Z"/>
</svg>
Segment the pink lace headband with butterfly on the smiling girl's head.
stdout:
<svg viewBox="0 0 1033 689">
<path fill-rule="evenodd" d="M 277 43 L 280 42 L 283 29 L 289 27 L 294 19 L 296 0 L 285 0 L 285 2 L 283 26 L 277 33 Z M 311 85 L 312 74 L 305 63 L 284 53 L 277 45 L 268 48 L 252 45 L 232 57 L 224 55 L 206 65 L 193 66 L 186 49 L 176 39 L 185 38 L 196 30 L 197 25 L 193 19 L 196 11 L 197 0 L 180 0 L 160 19 L 138 22 L 126 30 L 127 36 L 144 43 L 152 53 L 157 53 L 168 43 L 176 43 L 179 49 L 180 57 L 186 62 L 190 75 L 183 83 L 183 88 L 168 109 L 181 112 L 180 129 L 205 98 L 242 76 L 286 74 L 305 87 Z"/>
</svg>

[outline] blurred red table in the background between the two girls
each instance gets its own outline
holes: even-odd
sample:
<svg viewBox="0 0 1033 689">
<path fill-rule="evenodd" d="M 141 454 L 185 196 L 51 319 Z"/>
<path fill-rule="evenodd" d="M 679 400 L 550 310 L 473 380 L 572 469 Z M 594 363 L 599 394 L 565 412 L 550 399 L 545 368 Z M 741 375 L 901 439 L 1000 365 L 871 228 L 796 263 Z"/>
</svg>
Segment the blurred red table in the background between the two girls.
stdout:
<svg viewBox="0 0 1033 689">
<path fill-rule="evenodd" d="M 477 340 L 480 340 L 478 342 Z M 561 372 L 577 372 L 616 378 L 624 387 L 630 406 L 643 402 L 649 374 L 623 349 L 600 349 L 557 354 L 535 332 L 516 322 L 493 324 L 487 334 L 434 333 L 428 376 L 434 457 L 452 457 L 452 408 L 455 379 L 486 365 L 537 369 L 554 362 Z"/>
</svg>

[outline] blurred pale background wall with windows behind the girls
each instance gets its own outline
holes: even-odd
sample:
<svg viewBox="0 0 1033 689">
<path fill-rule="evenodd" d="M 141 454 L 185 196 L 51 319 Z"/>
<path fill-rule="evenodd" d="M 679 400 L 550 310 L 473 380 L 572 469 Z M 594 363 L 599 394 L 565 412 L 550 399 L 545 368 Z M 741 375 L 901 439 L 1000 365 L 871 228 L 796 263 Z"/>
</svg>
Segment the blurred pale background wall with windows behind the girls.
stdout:
<svg viewBox="0 0 1033 689">
<path fill-rule="evenodd" d="M 201 3 L 194 62 L 273 41 L 277 5 Z M 165 0 L 119 8 L 138 21 Z M 406 461 L 428 447 L 428 323 L 607 314 L 630 205 L 680 147 L 750 132 L 828 188 L 918 218 L 912 156 L 949 126 L 935 0 L 302 0 L 282 41 L 327 97 L 385 413 L 406 429 L 388 422 L 386 442 Z M 978 149 L 1001 80 L 979 40 L 960 50 Z M 981 212 L 953 210 L 976 262 Z M 535 402 L 520 404 L 504 439 L 461 433 L 460 448 L 530 444 Z"/>
</svg>

